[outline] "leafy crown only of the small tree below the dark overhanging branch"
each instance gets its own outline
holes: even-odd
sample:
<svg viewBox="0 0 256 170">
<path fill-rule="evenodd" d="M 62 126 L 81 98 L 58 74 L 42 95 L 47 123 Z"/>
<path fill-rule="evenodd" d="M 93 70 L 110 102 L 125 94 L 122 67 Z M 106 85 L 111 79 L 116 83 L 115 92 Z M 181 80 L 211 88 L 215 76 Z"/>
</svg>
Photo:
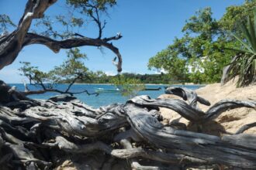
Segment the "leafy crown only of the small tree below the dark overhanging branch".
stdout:
<svg viewBox="0 0 256 170">
<path fill-rule="evenodd" d="M 46 84 L 48 88 L 53 88 L 56 83 L 74 83 L 77 80 L 88 77 L 88 68 L 84 66 L 86 55 L 78 48 L 67 51 L 67 59 L 61 66 L 55 66 L 53 70 L 44 73 L 38 70 L 37 66 L 31 66 L 29 62 L 20 62 L 22 67 L 20 75 L 26 76 L 30 83 Z"/>
</svg>

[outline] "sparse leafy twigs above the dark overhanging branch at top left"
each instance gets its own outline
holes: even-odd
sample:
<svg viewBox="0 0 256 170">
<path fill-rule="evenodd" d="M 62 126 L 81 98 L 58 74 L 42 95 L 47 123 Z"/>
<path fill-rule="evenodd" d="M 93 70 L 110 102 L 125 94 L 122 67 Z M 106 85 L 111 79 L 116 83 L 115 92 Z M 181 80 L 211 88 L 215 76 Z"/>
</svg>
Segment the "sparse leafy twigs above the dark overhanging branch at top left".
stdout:
<svg viewBox="0 0 256 170">
<path fill-rule="evenodd" d="M 66 3 L 69 8 L 67 13 L 45 15 L 43 19 L 36 20 L 35 26 L 40 29 L 33 29 L 32 32 L 54 39 L 81 37 L 78 30 L 95 22 L 99 28 L 98 38 L 101 38 L 106 26 L 106 20 L 101 16 L 107 15 L 108 9 L 116 5 L 116 0 L 66 0 Z"/>
</svg>

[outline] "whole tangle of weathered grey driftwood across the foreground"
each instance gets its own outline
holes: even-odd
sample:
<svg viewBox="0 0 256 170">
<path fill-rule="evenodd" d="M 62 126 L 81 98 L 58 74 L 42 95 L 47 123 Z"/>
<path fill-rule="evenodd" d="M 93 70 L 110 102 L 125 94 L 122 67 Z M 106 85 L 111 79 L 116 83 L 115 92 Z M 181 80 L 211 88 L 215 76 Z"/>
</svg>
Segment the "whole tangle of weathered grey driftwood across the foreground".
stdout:
<svg viewBox="0 0 256 170">
<path fill-rule="evenodd" d="M 166 93 L 178 95 L 188 103 L 138 96 L 126 104 L 95 109 L 74 97 L 68 102 L 64 97 L 2 100 L 0 165 L 2 169 L 52 169 L 60 165 L 61 158 L 81 158 L 91 153 L 102 156 L 96 169 L 112 169 L 122 159 L 126 160 L 123 169 L 186 169 L 206 165 L 256 168 L 256 135 L 241 134 L 255 124 L 242 127 L 237 134 L 218 137 L 164 126 L 158 112 L 158 107 L 167 107 L 194 124 L 206 124 L 225 110 L 255 108 L 256 102 L 222 100 L 203 112 L 197 101 L 206 105 L 209 102 L 194 91 L 168 88 Z M 59 98 L 62 102 L 57 102 Z"/>
</svg>

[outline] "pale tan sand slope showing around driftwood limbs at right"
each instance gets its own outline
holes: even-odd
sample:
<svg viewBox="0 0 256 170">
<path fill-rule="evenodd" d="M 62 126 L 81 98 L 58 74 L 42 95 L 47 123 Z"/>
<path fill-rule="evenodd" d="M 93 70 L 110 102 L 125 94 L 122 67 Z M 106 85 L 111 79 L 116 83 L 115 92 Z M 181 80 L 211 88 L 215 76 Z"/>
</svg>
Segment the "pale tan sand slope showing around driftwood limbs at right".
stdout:
<svg viewBox="0 0 256 170">
<path fill-rule="evenodd" d="M 202 87 L 196 90 L 199 96 L 206 98 L 210 101 L 211 105 L 223 99 L 236 99 L 236 100 L 256 100 L 256 85 L 244 88 L 237 88 L 235 80 L 231 80 L 223 87 L 220 83 L 209 84 L 206 87 Z M 173 95 L 164 94 L 161 97 L 174 97 Z M 175 97 L 178 98 L 178 97 Z M 206 111 L 207 106 L 199 104 L 199 107 Z M 161 114 L 164 116 L 164 123 L 173 121 L 180 117 L 175 111 L 161 108 Z M 195 125 L 190 124 L 189 121 L 182 118 L 179 120 L 182 123 L 188 125 L 189 131 L 196 131 Z M 221 114 L 215 121 L 208 122 L 203 125 L 203 133 L 206 134 L 229 134 L 236 132 L 244 124 L 250 124 L 256 122 L 256 110 L 248 108 L 239 108 L 229 110 Z M 256 128 L 251 128 L 244 133 L 256 134 Z"/>
</svg>

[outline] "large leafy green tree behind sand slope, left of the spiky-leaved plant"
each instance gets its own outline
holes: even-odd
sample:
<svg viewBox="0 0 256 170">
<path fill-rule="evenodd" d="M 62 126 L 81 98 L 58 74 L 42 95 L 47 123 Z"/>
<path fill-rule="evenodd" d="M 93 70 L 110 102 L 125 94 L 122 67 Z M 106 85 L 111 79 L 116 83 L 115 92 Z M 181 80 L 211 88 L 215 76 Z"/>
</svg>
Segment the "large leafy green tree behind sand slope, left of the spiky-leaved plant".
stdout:
<svg viewBox="0 0 256 170">
<path fill-rule="evenodd" d="M 217 56 L 211 55 L 220 53 L 213 43 L 213 37 L 218 32 L 218 22 L 212 18 L 211 8 L 196 12 L 186 21 L 182 31 L 185 32 L 182 38 L 175 38 L 167 49 L 150 58 L 149 68 L 164 69 L 175 80 L 193 83 L 220 80 L 221 68 L 214 66 Z M 204 62 L 201 61 L 202 57 L 205 58 Z"/>
</svg>

